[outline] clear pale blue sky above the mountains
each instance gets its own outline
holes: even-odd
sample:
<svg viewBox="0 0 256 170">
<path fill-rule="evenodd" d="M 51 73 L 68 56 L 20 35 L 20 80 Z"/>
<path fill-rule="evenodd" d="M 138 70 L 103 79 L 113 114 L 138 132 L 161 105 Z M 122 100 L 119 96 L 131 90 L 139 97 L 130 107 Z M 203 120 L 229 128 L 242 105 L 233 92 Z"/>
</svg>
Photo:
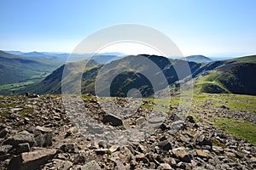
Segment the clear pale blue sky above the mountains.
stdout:
<svg viewBox="0 0 256 170">
<path fill-rule="evenodd" d="M 0 49 L 72 52 L 106 26 L 151 26 L 184 55 L 256 54 L 254 0 L 0 0 Z"/>
</svg>

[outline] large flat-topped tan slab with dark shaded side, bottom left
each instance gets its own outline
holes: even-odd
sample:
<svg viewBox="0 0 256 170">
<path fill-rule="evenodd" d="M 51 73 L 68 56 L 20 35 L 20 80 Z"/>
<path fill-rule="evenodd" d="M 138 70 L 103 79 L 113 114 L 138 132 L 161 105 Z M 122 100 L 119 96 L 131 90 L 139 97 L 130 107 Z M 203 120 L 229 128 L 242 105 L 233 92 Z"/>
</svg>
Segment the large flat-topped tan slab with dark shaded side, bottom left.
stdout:
<svg viewBox="0 0 256 170">
<path fill-rule="evenodd" d="M 9 162 L 9 170 L 36 170 L 47 161 L 51 160 L 56 154 L 54 149 L 42 149 L 25 152 L 16 156 Z"/>
</svg>

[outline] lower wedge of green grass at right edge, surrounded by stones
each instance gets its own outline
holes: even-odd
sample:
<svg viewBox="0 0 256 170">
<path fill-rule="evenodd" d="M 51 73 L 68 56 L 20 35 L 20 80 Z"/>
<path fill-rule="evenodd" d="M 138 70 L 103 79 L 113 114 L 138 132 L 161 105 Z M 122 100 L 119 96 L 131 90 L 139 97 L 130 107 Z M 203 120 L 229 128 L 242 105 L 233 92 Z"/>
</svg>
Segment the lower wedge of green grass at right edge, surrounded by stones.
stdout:
<svg viewBox="0 0 256 170">
<path fill-rule="evenodd" d="M 210 120 L 219 129 L 224 128 L 225 133 L 233 134 L 237 138 L 247 139 L 248 142 L 256 144 L 256 125 L 253 123 L 223 117 L 212 117 Z"/>
</svg>

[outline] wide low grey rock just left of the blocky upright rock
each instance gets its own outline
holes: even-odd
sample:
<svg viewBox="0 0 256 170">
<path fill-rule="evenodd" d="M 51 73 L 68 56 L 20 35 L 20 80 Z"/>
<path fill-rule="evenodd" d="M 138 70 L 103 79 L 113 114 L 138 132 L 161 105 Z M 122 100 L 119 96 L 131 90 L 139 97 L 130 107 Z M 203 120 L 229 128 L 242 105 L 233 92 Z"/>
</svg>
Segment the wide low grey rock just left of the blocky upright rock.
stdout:
<svg viewBox="0 0 256 170">
<path fill-rule="evenodd" d="M 20 133 L 15 133 L 14 136 L 10 136 L 3 144 L 11 144 L 16 147 L 18 144 L 28 143 L 32 146 L 35 143 L 33 137 L 34 135 L 32 133 L 21 131 Z"/>
</svg>

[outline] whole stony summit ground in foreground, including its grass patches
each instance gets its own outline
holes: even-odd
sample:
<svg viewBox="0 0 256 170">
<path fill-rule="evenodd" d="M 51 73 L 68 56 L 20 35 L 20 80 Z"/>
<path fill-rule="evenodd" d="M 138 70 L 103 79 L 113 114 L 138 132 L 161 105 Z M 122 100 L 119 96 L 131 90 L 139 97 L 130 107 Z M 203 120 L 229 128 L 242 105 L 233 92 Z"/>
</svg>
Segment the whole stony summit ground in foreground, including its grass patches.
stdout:
<svg viewBox="0 0 256 170">
<path fill-rule="evenodd" d="M 195 94 L 193 99 L 175 96 L 171 103 L 143 99 L 133 115 L 108 117 L 104 125 L 101 105 L 109 99 L 84 95 L 82 105 L 95 119 L 95 127 L 122 132 L 143 127 L 152 112 L 167 113 L 147 139 L 127 144 L 119 144 L 120 136 L 108 143 L 94 140 L 98 134 L 84 135 L 82 128 L 74 127 L 61 95 L 0 98 L 0 169 L 256 168 L 256 96 Z M 110 100 L 124 112 L 137 104 L 133 99 Z M 118 113 L 113 105 L 108 109 Z M 83 117 L 79 108 L 69 110 Z"/>
</svg>

